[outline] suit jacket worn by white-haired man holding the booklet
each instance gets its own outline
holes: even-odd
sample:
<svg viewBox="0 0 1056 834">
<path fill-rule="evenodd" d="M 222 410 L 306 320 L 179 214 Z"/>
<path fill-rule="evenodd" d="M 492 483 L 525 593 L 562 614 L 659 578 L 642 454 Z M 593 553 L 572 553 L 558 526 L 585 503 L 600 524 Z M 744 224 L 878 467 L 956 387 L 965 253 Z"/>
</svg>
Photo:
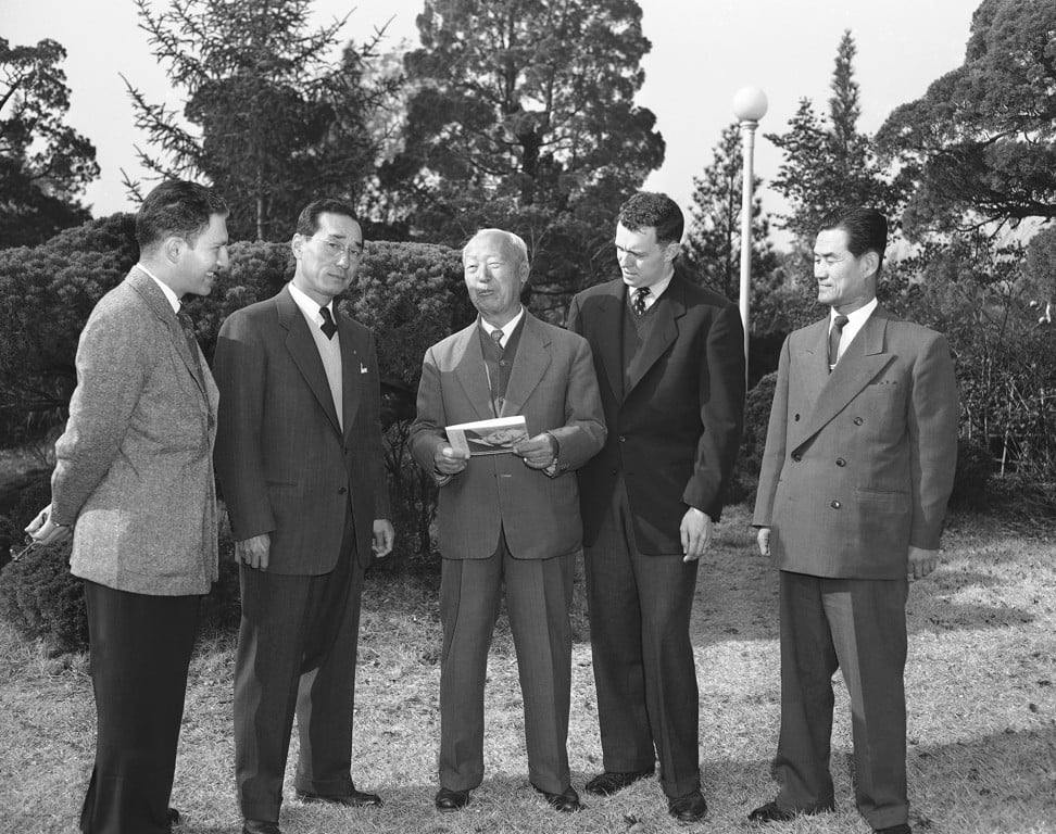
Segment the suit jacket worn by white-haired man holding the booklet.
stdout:
<svg viewBox="0 0 1056 834">
<path fill-rule="evenodd" d="M 418 386 L 411 429 L 414 459 L 436 476 L 433 456 L 447 443 L 444 427 L 494 417 L 480 349 L 479 321 L 432 345 Z M 523 414 L 529 437 L 549 431 L 560 452 L 553 477 L 513 454 L 477 456 L 440 488 L 440 553 L 483 559 L 505 531 L 511 555 L 545 559 L 581 546 L 579 492 L 574 470 L 605 440 L 598 382 L 586 340 L 540 321 L 527 311 L 502 414 Z"/>
</svg>

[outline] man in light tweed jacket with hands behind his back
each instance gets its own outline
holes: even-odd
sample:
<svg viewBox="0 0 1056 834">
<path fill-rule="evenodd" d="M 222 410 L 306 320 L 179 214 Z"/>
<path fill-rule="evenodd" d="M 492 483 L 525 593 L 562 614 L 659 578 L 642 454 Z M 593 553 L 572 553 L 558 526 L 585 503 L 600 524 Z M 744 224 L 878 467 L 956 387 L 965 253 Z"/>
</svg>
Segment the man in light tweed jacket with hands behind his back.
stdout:
<svg viewBox="0 0 1056 834">
<path fill-rule="evenodd" d="M 73 534 L 85 585 L 96 762 L 86 834 L 168 832 L 199 599 L 216 579 L 216 387 L 181 309 L 227 268 L 227 206 L 166 181 L 136 215 L 139 263 L 103 295 L 77 345 L 51 504 L 27 528 Z"/>
</svg>

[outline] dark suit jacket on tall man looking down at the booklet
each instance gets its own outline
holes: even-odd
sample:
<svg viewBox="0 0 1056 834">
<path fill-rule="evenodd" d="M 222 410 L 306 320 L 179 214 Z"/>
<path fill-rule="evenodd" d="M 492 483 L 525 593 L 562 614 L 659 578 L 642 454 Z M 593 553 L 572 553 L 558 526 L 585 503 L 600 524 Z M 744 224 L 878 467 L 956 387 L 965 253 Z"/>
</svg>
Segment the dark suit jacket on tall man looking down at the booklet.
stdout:
<svg viewBox="0 0 1056 834">
<path fill-rule="evenodd" d="M 744 330 L 737 307 L 676 269 L 650 311 L 649 341 L 624 383 L 623 280 L 573 299 L 568 328 L 590 342 L 608 440 L 579 472 L 583 538 L 593 543 L 617 479 L 627 485 L 638 548 L 680 553 L 688 506 L 718 520 L 744 419 Z"/>
</svg>

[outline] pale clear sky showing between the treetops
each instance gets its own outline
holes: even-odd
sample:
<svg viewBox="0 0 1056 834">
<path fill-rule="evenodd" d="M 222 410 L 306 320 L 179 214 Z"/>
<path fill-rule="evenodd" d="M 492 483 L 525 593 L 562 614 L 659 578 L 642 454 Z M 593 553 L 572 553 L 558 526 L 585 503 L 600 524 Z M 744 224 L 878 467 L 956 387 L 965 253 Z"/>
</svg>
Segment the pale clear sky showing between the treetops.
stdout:
<svg viewBox="0 0 1056 834">
<path fill-rule="evenodd" d="M 781 155 L 766 132 L 784 132 L 801 98 L 827 112 L 837 47 L 844 29 L 857 45 L 859 129 L 872 132 L 900 104 L 964 62 L 971 15 L 981 0 L 639 0 L 642 28 L 653 48 L 643 61 L 638 104 L 656 115 L 667 142 L 663 166 L 645 188 L 691 205 L 693 177 L 711 162 L 722 128 L 733 119 L 733 94 L 760 88 L 769 110 L 759 123 L 755 173 L 764 180 L 764 212 L 784 206 L 766 181 Z M 166 0 L 151 0 L 160 11 Z M 418 43 L 422 0 L 315 0 L 316 23 L 351 12 L 343 39 L 362 42 L 388 24 L 382 50 Z M 67 52 L 67 124 L 96 146 L 99 180 L 85 202 L 96 216 L 134 208 L 122 168 L 140 174 L 137 130 L 124 75 L 148 101 L 180 109 L 139 27 L 133 0 L 0 0 L 0 36 L 11 45 L 52 38 Z"/>
</svg>

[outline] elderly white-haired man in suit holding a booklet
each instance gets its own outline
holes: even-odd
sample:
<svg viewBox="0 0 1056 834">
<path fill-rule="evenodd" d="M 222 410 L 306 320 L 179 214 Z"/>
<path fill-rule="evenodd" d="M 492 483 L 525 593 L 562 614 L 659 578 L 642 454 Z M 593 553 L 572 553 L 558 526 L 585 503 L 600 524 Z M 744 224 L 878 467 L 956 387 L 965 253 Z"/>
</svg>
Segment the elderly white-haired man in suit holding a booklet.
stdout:
<svg viewBox="0 0 1056 834">
<path fill-rule="evenodd" d="M 580 809 L 566 738 L 571 685 L 573 569 L 580 548 L 575 469 L 605 439 L 590 349 L 520 304 L 525 242 L 485 229 L 463 250 L 474 324 L 432 345 L 412 428 L 415 460 L 440 484 L 440 791 L 469 800 L 483 776 L 488 648 L 505 582 L 525 699 L 531 784 L 558 811 Z M 523 415 L 513 454 L 460 455 L 444 427 Z"/>
</svg>

